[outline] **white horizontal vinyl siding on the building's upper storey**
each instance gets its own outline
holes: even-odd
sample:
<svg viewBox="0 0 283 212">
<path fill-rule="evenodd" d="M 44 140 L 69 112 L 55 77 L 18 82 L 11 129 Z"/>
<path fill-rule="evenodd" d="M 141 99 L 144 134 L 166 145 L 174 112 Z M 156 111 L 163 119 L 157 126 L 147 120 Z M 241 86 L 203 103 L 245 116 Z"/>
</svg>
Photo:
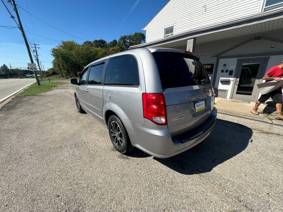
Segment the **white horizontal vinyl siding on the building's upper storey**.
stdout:
<svg viewBox="0 0 283 212">
<path fill-rule="evenodd" d="M 171 0 L 147 24 L 147 41 L 164 38 L 164 29 L 174 26 L 174 35 L 223 24 L 257 14 L 261 0 Z"/>
</svg>

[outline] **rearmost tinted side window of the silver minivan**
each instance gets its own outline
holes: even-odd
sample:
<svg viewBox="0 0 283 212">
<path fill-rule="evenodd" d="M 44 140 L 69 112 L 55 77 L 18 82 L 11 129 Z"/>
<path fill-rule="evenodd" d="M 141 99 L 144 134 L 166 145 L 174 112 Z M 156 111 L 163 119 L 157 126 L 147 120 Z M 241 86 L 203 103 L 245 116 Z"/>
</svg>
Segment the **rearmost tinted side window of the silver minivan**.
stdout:
<svg viewBox="0 0 283 212">
<path fill-rule="evenodd" d="M 139 85 L 138 64 L 131 55 L 110 58 L 105 75 L 106 85 Z"/>
</svg>

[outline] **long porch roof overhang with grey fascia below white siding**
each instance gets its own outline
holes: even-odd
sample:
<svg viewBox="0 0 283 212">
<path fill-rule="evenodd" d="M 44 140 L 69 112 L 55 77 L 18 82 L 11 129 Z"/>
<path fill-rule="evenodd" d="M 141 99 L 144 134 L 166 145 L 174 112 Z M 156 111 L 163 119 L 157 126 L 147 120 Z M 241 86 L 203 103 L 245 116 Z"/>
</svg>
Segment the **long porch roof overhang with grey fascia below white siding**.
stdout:
<svg viewBox="0 0 283 212">
<path fill-rule="evenodd" d="M 154 42 L 130 46 L 129 49 L 163 46 L 170 48 L 171 45 L 172 47 L 185 46 L 187 39 L 191 38 L 197 38 L 197 43 L 204 43 L 279 29 L 283 29 L 283 9 L 267 11 L 244 19 L 218 24 L 213 27 L 196 29 Z"/>
</svg>

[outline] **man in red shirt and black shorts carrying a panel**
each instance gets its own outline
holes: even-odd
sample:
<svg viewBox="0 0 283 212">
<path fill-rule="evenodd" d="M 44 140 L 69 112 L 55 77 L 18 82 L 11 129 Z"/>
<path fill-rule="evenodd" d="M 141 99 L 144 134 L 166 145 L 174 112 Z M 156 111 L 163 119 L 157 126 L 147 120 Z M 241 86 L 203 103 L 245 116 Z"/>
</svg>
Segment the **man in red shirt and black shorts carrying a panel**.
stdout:
<svg viewBox="0 0 283 212">
<path fill-rule="evenodd" d="M 269 69 L 264 77 L 262 79 L 268 81 L 275 80 L 276 82 L 280 82 L 281 78 L 283 77 L 283 62 L 279 64 L 278 66 L 274 66 L 271 69 Z M 254 106 L 254 109 L 251 111 L 252 114 L 254 115 L 259 115 L 257 112 L 257 108 L 262 102 L 265 102 L 269 98 L 272 98 L 274 102 L 276 102 L 276 119 L 283 120 L 283 115 L 282 115 L 282 87 L 277 88 L 276 90 L 261 95 L 259 100 L 256 101 L 256 105 Z"/>
</svg>

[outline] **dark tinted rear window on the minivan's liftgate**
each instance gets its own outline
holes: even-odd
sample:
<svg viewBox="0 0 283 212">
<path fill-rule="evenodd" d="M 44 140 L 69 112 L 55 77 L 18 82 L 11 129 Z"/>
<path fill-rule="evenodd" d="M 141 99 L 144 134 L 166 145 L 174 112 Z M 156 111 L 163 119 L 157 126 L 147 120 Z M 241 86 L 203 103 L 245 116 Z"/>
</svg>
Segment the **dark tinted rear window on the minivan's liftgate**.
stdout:
<svg viewBox="0 0 283 212">
<path fill-rule="evenodd" d="M 153 52 L 162 89 L 210 83 L 203 65 L 190 55 L 177 52 Z"/>
</svg>

